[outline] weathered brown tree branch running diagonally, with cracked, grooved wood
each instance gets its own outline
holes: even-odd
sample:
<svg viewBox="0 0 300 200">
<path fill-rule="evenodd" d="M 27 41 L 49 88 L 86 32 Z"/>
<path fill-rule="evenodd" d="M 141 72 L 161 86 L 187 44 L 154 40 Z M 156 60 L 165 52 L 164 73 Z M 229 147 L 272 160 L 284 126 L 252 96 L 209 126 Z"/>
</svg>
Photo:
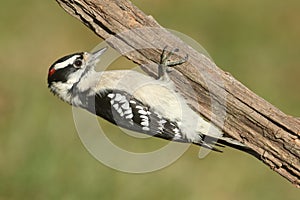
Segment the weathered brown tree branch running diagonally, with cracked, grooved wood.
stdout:
<svg viewBox="0 0 300 200">
<path fill-rule="evenodd" d="M 254 94 L 128 0 L 56 1 L 150 75 L 157 74 L 151 63 L 158 62 L 164 46 L 187 53 L 188 63 L 171 73 L 178 91 L 198 113 L 251 147 L 258 159 L 300 187 L 299 119 Z"/>
</svg>

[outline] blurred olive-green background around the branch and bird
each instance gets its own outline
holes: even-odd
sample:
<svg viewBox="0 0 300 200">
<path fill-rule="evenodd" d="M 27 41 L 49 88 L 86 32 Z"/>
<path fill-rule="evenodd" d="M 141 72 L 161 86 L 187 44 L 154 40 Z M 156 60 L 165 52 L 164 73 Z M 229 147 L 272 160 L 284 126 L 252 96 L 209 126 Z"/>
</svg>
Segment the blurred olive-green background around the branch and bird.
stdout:
<svg viewBox="0 0 300 200">
<path fill-rule="evenodd" d="M 197 40 L 218 66 L 258 95 L 300 115 L 299 0 L 134 3 L 161 25 Z M 81 144 L 71 107 L 46 84 L 54 60 L 101 40 L 54 0 L 2 1 L 0 16 L 0 200 L 300 199 L 299 190 L 277 173 L 231 149 L 200 160 L 198 147 L 191 147 L 171 166 L 148 174 L 104 166 Z M 122 146 L 162 144 L 123 139 L 104 125 Z"/>
</svg>

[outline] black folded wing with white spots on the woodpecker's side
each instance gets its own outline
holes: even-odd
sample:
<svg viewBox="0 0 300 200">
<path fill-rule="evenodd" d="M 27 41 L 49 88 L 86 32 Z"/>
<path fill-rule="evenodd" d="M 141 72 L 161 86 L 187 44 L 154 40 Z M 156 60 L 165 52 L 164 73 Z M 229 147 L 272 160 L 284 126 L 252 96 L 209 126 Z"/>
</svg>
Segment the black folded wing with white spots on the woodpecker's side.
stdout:
<svg viewBox="0 0 300 200">
<path fill-rule="evenodd" d="M 87 102 L 87 110 L 117 126 L 167 140 L 188 142 L 176 122 L 164 118 L 125 91 L 105 90 Z"/>
</svg>

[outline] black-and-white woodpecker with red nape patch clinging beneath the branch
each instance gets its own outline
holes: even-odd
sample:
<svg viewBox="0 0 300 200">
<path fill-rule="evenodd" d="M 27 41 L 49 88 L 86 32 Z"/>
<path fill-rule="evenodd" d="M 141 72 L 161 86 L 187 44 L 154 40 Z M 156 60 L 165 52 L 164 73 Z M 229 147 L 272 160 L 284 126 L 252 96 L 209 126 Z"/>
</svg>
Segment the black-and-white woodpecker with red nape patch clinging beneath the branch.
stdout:
<svg viewBox="0 0 300 200">
<path fill-rule="evenodd" d="M 107 47 L 93 53 L 64 56 L 51 65 L 48 87 L 61 100 L 83 108 L 105 120 L 142 134 L 214 151 L 220 147 L 249 151 L 244 144 L 224 136 L 222 131 L 193 111 L 175 91 L 169 69 L 187 61 L 172 61 L 178 49 L 163 49 L 158 78 L 132 70 L 95 71 Z"/>
</svg>

